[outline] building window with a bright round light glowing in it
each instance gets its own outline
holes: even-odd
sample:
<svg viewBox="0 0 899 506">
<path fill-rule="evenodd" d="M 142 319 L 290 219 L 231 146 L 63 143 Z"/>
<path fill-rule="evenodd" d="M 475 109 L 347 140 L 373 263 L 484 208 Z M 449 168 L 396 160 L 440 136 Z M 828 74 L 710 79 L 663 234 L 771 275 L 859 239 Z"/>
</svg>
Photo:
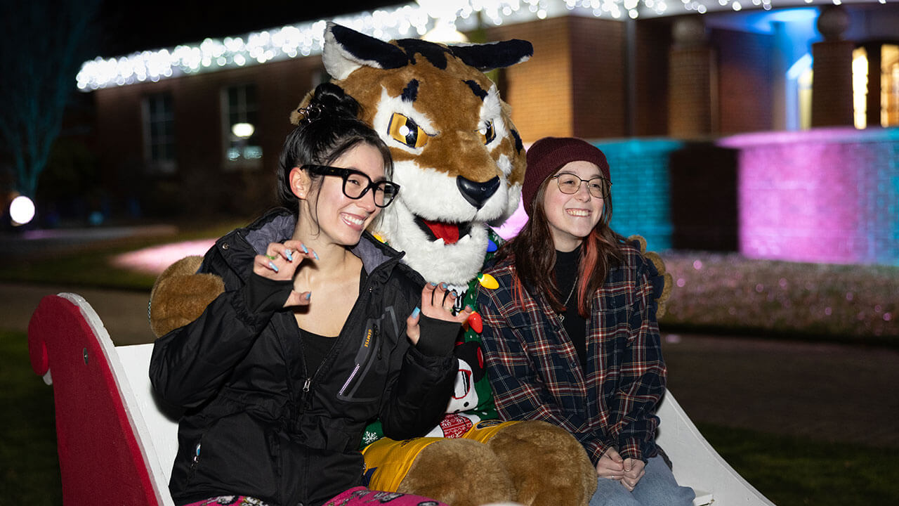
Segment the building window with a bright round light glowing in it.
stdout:
<svg viewBox="0 0 899 506">
<path fill-rule="evenodd" d="M 259 145 L 258 103 L 255 85 L 230 86 L 222 95 L 224 112 L 225 166 L 262 167 L 263 148 Z"/>
</svg>

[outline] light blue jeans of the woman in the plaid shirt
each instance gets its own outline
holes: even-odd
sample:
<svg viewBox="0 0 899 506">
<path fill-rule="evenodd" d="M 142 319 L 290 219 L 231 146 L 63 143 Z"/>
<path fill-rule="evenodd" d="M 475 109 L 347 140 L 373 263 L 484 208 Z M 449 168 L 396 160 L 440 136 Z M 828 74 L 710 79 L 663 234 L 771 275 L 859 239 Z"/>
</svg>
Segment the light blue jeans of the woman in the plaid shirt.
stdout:
<svg viewBox="0 0 899 506">
<path fill-rule="evenodd" d="M 599 478 L 590 506 L 692 506 L 696 494 L 677 484 L 662 456 L 650 458 L 645 471 L 634 492 L 619 482 Z"/>
</svg>

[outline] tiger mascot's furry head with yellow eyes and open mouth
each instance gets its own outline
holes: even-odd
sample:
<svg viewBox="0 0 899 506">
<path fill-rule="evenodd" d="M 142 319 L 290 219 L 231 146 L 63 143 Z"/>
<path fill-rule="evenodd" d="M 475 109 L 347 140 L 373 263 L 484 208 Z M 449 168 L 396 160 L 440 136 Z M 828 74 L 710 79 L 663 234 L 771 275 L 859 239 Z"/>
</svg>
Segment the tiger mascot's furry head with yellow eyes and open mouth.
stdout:
<svg viewBox="0 0 899 506">
<path fill-rule="evenodd" d="M 387 142 L 402 187 L 372 231 L 405 251 L 428 281 L 467 285 L 484 262 L 487 224 L 501 223 L 518 206 L 524 147 L 484 71 L 532 52 L 530 42 L 516 40 L 384 42 L 328 24 L 325 69 Z"/>
</svg>

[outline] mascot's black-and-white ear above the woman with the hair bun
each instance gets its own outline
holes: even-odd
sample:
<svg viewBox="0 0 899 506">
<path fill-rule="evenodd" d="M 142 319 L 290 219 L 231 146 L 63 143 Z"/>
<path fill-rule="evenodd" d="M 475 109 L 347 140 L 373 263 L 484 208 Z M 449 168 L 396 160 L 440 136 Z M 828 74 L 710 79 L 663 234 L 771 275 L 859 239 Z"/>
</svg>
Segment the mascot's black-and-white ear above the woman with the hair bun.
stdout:
<svg viewBox="0 0 899 506">
<path fill-rule="evenodd" d="M 357 68 L 400 68 L 409 63 L 409 58 L 393 44 L 328 23 L 322 63 L 331 77 L 342 81 Z"/>
</svg>

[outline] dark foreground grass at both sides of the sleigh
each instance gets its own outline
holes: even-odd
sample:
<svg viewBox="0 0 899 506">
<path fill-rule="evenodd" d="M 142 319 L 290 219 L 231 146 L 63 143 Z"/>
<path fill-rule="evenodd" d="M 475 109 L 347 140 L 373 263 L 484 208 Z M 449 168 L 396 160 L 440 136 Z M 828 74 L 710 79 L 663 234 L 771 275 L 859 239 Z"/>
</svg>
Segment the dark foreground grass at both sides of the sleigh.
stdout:
<svg viewBox="0 0 899 506">
<path fill-rule="evenodd" d="M 62 503 L 52 388 L 31 371 L 22 332 L 0 331 L 0 504 Z M 699 425 L 743 477 L 780 506 L 899 504 L 899 449 L 834 445 Z"/>
</svg>

